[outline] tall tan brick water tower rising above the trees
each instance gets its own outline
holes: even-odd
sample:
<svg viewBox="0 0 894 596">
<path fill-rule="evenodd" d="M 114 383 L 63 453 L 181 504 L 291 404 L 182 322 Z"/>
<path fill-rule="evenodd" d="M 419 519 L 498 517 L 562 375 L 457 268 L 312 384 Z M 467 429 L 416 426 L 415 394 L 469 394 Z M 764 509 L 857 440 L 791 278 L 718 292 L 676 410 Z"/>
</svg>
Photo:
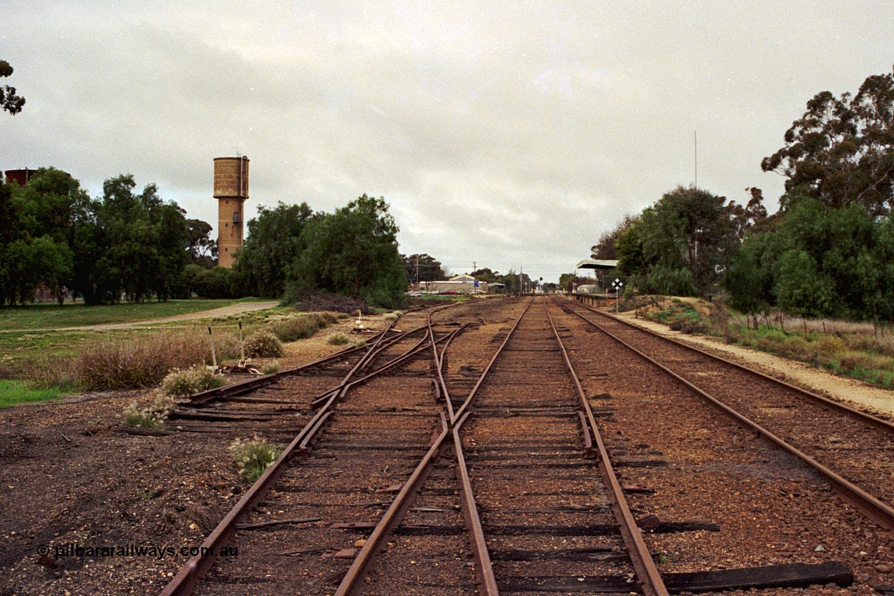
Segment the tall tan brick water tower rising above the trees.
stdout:
<svg viewBox="0 0 894 596">
<path fill-rule="evenodd" d="M 242 204 L 249 198 L 249 158 L 215 158 L 217 264 L 231 268 L 242 248 Z"/>
</svg>

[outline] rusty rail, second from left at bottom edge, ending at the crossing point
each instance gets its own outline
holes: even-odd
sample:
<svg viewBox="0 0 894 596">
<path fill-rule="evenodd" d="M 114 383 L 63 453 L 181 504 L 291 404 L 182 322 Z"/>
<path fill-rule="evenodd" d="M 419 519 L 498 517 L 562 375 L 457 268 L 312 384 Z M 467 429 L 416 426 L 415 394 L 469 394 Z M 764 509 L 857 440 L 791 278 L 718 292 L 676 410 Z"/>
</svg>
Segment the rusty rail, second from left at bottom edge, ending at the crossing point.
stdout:
<svg viewBox="0 0 894 596">
<path fill-rule="evenodd" d="M 392 500 L 392 504 L 388 510 L 375 524 L 375 529 L 370 533 L 366 543 L 360 549 L 354 562 L 348 568 L 348 572 L 339 584 L 334 596 L 355 596 L 359 593 L 359 589 L 363 584 L 369 569 L 369 565 L 379 552 L 382 551 L 384 542 L 394 529 L 401 524 L 401 520 L 406 515 L 407 510 L 412 504 L 413 498 L 416 496 L 419 488 L 432 473 L 434 462 L 440 455 L 441 447 L 446 438 L 450 436 L 450 426 L 447 423 L 447 417 L 441 413 L 441 434 L 434 440 L 432 447 L 428 449 L 426 455 L 422 457 L 416 466 L 416 469 L 410 474 L 407 481 L 403 483 L 401 491 Z"/>
</svg>

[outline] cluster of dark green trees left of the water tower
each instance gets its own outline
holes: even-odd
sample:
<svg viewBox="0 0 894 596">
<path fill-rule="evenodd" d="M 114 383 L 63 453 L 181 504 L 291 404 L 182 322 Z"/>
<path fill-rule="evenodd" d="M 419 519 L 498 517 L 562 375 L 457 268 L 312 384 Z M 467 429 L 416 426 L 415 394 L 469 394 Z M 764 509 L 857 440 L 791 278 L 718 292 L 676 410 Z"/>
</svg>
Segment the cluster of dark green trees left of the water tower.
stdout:
<svg viewBox="0 0 894 596">
<path fill-rule="evenodd" d="M 154 184 L 135 187 L 132 175 L 109 178 L 94 200 L 52 167 L 21 187 L 0 183 L 0 305 L 30 302 L 41 283 L 60 303 L 66 287 L 88 304 L 186 295 L 190 249 L 207 249 L 211 228 L 188 223 Z"/>
</svg>

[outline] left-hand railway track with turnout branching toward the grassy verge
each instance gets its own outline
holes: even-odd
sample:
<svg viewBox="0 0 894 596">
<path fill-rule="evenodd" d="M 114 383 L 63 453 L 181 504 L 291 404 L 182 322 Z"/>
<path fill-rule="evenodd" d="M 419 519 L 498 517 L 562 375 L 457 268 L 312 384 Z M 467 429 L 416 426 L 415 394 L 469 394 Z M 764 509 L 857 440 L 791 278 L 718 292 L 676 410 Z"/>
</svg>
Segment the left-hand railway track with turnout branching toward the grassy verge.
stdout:
<svg viewBox="0 0 894 596">
<path fill-rule="evenodd" d="M 460 305 L 450 310 L 460 311 L 460 319 L 461 312 L 468 311 L 465 319 L 474 327 L 482 320 L 482 309 L 493 307 Z M 210 416 L 201 421 L 205 426 L 200 430 L 243 436 L 260 427 L 267 438 L 287 436 L 291 442 L 279 463 L 268 468 L 203 543 L 206 556 L 190 559 L 163 593 L 190 593 L 197 586 L 199 593 L 283 593 L 293 584 L 301 591 L 310 585 L 326 593 L 333 581 L 337 583 L 345 553 L 353 555 L 353 534 L 365 532 L 358 517 L 367 518 L 393 497 L 393 485 L 401 484 L 439 424 L 441 405 L 434 400 L 429 372 L 431 345 L 441 345 L 468 327 L 454 320 L 440 324 L 437 311 L 443 310 L 409 313 L 401 318 L 401 327 L 409 331 L 384 333 L 369 342 L 367 350 L 281 373 L 272 383 L 197 396 L 193 407 L 186 408 L 194 412 L 175 414 L 172 424 L 180 430 L 197 430 L 183 426 L 185 417 Z M 296 497 L 311 492 L 313 499 Z M 358 501 L 358 495 L 365 499 Z M 258 515 L 275 519 L 258 520 Z M 322 552 L 298 549 L 283 554 L 271 552 L 271 541 L 331 546 L 319 547 Z M 215 554 L 228 543 L 241 543 L 241 553 L 250 553 L 240 554 L 239 569 L 232 573 L 229 566 L 213 567 L 223 565 Z M 297 577 L 260 571 L 271 562 L 293 566 L 295 558 L 313 564 L 302 565 L 305 571 Z"/>
</svg>

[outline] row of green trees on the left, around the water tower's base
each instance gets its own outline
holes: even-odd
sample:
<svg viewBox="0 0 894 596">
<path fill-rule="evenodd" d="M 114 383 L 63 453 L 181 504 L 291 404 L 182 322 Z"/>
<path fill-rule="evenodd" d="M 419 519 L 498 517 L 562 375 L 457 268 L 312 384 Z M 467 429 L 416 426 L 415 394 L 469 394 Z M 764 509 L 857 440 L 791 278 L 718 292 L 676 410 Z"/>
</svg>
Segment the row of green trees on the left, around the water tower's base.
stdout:
<svg viewBox="0 0 894 596">
<path fill-rule="evenodd" d="M 396 306 L 406 289 L 384 199 L 363 195 L 333 213 L 261 208 L 232 269 L 215 266 L 211 230 L 155 184 L 138 192 L 132 175 L 107 179 L 93 199 L 71 175 L 40 168 L 24 186 L 0 183 L 0 306 L 33 302 L 41 285 L 60 304 L 328 292 Z"/>
</svg>

